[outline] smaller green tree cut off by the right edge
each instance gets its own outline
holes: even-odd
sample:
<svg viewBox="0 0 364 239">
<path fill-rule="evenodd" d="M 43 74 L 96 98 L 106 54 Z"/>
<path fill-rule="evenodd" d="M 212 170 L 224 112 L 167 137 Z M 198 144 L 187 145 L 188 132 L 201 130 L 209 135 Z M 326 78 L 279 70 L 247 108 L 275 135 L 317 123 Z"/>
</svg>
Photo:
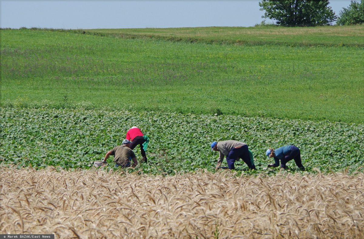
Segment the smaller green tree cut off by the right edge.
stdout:
<svg viewBox="0 0 364 239">
<path fill-rule="evenodd" d="M 336 24 L 338 25 L 352 25 L 364 23 L 364 2 L 360 3 L 351 1 L 348 8 L 343 8 L 340 11 Z"/>
</svg>

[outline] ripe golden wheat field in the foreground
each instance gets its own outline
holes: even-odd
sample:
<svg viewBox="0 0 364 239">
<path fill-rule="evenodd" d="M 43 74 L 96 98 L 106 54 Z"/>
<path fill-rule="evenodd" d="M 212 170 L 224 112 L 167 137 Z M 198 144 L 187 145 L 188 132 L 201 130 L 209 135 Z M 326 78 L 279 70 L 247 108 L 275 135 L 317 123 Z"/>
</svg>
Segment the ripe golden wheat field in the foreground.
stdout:
<svg viewBox="0 0 364 239">
<path fill-rule="evenodd" d="M 364 174 L 175 176 L 2 167 L 0 234 L 364 238 Z"/>
</svg>

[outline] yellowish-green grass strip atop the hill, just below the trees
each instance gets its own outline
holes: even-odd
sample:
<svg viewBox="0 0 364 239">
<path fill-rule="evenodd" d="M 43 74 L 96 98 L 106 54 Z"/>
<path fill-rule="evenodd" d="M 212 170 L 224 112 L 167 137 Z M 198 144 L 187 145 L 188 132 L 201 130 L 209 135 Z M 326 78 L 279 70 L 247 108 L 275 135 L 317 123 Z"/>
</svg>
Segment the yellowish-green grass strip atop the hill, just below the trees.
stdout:
<svg viewBox="0 0 364 239">
<path fill-rule="evenodd" d="M 238 45 L 364 46 L 364 26 L 86 29 L 86 34 Z"/>
</svg>

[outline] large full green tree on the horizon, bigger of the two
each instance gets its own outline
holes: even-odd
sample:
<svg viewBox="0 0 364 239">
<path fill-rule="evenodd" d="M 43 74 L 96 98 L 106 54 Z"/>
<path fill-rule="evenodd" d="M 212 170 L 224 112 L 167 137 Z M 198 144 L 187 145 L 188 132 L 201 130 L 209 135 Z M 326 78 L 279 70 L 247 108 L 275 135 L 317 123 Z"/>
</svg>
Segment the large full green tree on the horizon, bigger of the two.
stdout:
<svg viewBox="0 0 364 239">
<path fill-rule="evenodd" d="M 335 13 L 328 0 L 262 0 L 259 2 L 262 17 L 274 19 L 282 26 L 331 25 Z"/>
</svg>

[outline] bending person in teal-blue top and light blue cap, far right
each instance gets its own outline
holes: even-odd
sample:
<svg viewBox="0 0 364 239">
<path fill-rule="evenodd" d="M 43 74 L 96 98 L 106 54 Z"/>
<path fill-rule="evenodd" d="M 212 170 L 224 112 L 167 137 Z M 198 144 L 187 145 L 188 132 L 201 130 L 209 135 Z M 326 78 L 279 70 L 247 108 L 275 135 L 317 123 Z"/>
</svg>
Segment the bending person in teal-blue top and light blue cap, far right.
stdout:
<svg viewBox="0 0 364 239">
<path fill-rule="evenodd" d="M 305 167 L 302 165 L 301 152 L 294 145 L 286 145 L 279 147 L 278 149 L 269 148 L 265 155 L 269 158 L 274 158 L 274 163 L 268 165 L 268 167 L 278 167 L 281 160 L 281 168 L 286 169 L 286 163 L 292 159 L 296 162 L 297 167 L 305 171 Z"/>
</svg>

